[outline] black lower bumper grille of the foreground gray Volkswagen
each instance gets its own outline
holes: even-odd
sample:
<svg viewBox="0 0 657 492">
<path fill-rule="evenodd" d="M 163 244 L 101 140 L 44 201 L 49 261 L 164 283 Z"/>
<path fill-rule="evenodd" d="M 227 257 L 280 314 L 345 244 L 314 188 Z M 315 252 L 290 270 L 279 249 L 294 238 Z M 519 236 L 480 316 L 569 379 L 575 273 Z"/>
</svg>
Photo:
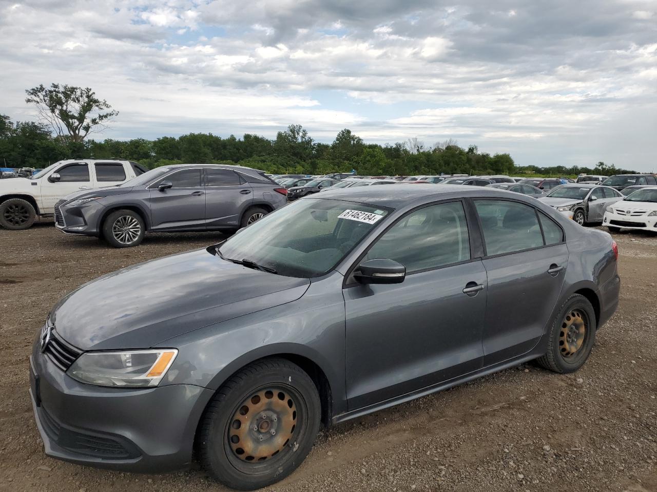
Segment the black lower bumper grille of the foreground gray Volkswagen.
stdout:
<svg viewBox="0 0 657 492">
<path fill-rule="evenodd" d="M 106 459 L 129 459 L 140 455 L 135 445 L 121 438 L 96 436 L 62 426 L 43 405 L 39 409 L 39 417 L 47 436 L 67 451 Z"/>
</svg>

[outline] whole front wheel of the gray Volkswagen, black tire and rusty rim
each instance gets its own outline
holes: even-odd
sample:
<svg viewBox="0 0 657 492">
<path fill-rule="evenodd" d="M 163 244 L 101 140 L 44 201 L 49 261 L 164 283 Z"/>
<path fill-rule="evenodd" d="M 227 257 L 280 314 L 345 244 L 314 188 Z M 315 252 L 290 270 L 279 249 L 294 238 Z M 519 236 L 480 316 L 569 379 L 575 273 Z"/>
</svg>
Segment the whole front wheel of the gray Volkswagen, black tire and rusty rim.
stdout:
<svg viewBox="0 0 657 492">
<path fill-rule="evenodd" d="M 254 362 L 227 380 L 208 404 L 198 434 L 200 461 L 217 482 L 260 489 L 304 461 L 320 419 L 317 388 L 300 367 L 279 358 Z"/>
</svg>

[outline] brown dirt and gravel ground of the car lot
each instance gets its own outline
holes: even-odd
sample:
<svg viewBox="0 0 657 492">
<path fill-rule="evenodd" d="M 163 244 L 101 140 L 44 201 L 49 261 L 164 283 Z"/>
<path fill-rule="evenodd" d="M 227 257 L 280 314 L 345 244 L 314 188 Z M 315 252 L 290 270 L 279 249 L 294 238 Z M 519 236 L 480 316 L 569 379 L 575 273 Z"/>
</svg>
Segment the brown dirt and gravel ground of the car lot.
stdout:
<svg viewBox="0 0 657 492">
<path fill-rule="evenodd" d="M 621 304 L 581 371 L 522 365 L 336 426 L 271 490 L 657 491 L 657 236 L 614 236 Z M 223 490 L 198 466 L 145 476 L 49 459 L 28 397 L 30 345 L 58 298 L 219 237 L 160 234 L 120 250 L 50 224 L 0 229 L 0 490 Z"/>
</svg>

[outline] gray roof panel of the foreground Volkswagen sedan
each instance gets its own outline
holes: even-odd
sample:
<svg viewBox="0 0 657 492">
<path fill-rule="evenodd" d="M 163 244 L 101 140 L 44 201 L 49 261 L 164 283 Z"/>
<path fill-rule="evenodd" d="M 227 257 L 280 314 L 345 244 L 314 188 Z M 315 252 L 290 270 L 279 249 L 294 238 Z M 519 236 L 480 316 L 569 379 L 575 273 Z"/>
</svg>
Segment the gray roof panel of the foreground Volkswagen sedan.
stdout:
<svg viewBox="0 0 657 492">
<path fill-rule="evenodd" d="M 491 189 L 487 186 L 463 186 L 460 184 L 417 184 L 407 186 L 401 183 L 390 186 L 359 186 L 357 188 L 338 188 L 312 195 L 318 199 L 340 199 L 355 203 L 367 203 L 397 209 L 411 203 L 428 203 L 440 199 L 461 198 L 468 196 L 504 197 L 515 196 L 512 192 Z"/>
</svg>

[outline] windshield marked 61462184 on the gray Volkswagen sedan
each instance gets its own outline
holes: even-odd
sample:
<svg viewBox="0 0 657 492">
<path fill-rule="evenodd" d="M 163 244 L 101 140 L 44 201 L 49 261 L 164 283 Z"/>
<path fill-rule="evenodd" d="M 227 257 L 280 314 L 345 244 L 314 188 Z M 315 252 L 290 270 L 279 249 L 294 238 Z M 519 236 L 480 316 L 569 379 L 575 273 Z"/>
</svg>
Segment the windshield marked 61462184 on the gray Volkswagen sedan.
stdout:
<svg viewBox="0 0 657 492">
<path fill-rule="evenodd" d="M 286 277 L 319 277 L 335 268 L 388 213 L 361 203 L 304 198 L 235 234 L 219 253 Z"/>
</svg>

